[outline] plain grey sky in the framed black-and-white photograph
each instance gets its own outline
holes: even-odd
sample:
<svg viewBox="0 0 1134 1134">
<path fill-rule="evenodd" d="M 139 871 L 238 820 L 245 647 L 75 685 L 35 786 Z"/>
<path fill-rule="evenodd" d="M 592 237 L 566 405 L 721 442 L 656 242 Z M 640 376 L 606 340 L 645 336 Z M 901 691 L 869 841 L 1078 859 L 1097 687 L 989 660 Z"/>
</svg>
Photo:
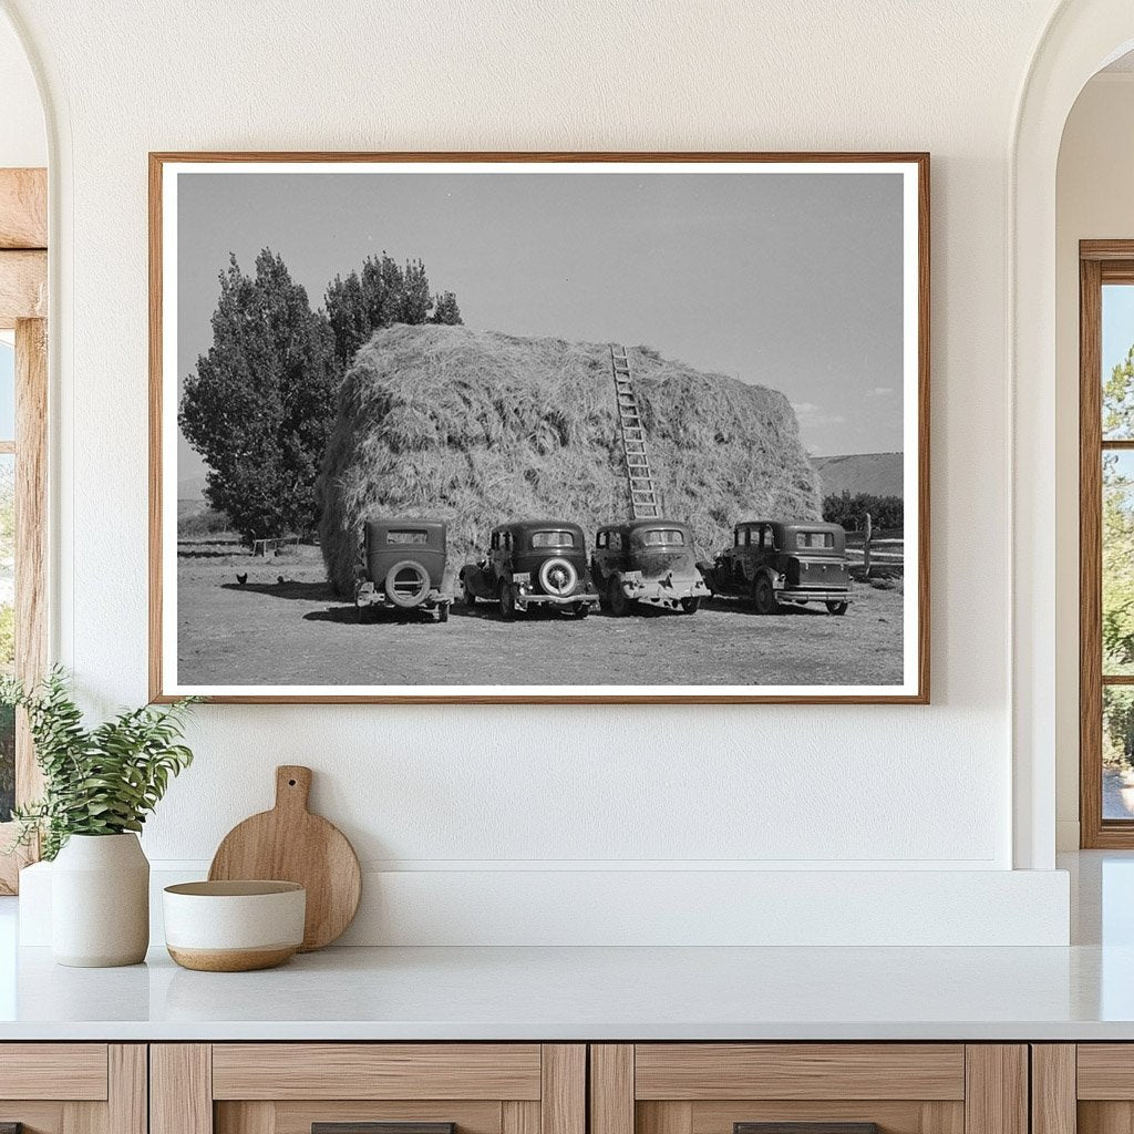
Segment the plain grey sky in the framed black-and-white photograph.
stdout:
<svg viewBox="0 0 1134 1134">
<path fill-rule="evenodd" d="M 384 251 L 468 327 L 772 387 L 816 456 L 903 447 L 898 174 L 183 174 L 178 196 L 183 381 L 230 252 L 248 272 L 280 253 L 318 307 Z M 202 472 L 183 440 L 178 479 Z"/>
</svg>

